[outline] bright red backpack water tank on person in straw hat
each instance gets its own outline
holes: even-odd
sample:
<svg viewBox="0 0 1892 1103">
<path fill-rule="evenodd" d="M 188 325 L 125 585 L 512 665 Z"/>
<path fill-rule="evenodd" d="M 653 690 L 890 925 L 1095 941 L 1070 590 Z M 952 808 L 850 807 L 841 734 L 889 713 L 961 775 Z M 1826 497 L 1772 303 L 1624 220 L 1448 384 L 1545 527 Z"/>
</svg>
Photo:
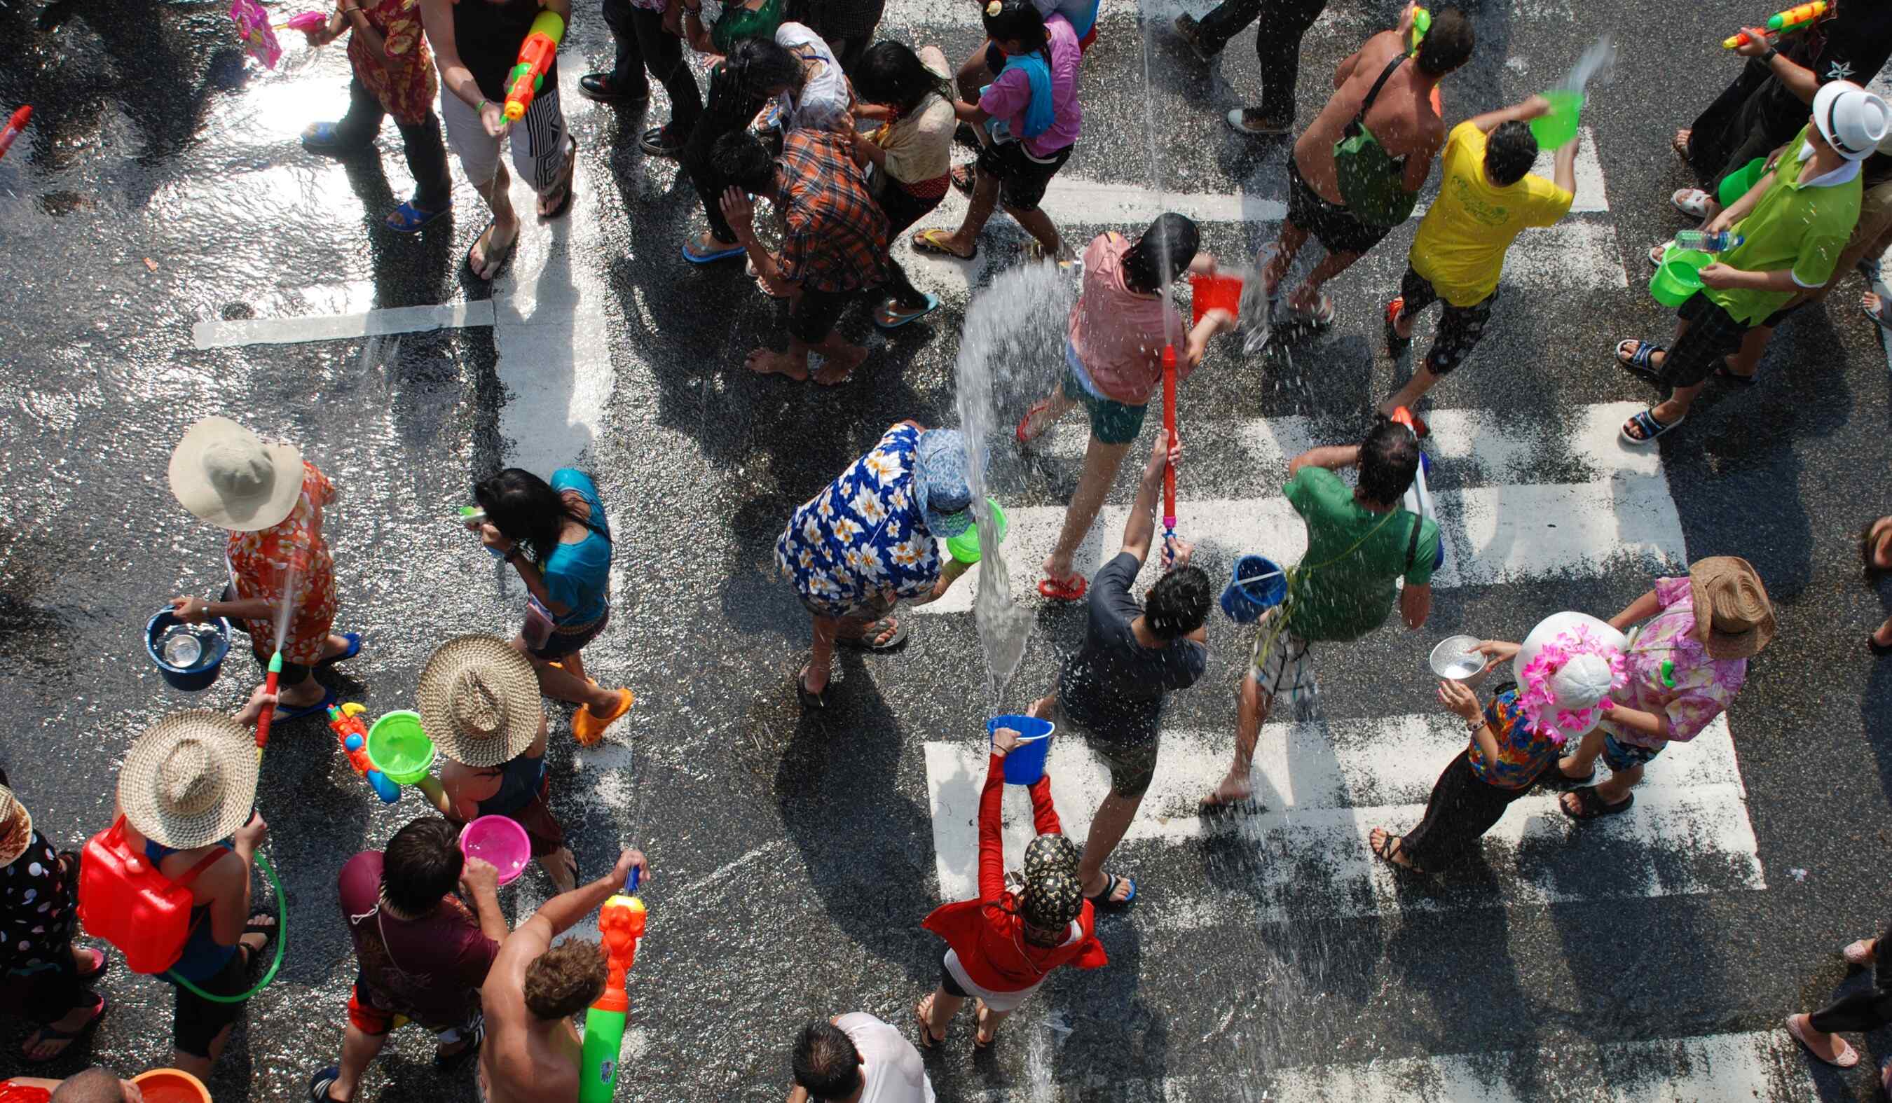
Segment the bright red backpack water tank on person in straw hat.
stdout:
<svg viewBox="0 0 1892 1103">
<path fill-rule="evenodd" d="M 132 972 L 165 972 L 191 937 L 191 882 L 219 857 L 212 851 L 174 882 L 125 842 L 121 815 L 79 851 L 79 923 L 117 946 Z"/>
</svg>

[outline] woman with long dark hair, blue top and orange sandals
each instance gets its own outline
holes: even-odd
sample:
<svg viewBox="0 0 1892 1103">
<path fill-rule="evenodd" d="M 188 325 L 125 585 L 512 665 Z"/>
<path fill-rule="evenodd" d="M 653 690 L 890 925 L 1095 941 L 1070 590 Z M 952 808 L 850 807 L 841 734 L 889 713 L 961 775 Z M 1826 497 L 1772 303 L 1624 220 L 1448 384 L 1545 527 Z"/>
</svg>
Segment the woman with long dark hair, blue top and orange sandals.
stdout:
<svg viewBox="0 0 1892 1103">
<path fill-rule="evenodd" d="M 571 734 L 592 745 L 634 700 L 585 677 L 581 657 L 611 619 L 611 526 L 598 486 L 577 467 L 552 471 L 551 482 L 507 467 L 475 486 L 473 499 L 486 511 L 481 541 L 526 583 L 526 626 L 513 647 L 532 660 L 539 692 L 579 706 Z"/>
</svg>

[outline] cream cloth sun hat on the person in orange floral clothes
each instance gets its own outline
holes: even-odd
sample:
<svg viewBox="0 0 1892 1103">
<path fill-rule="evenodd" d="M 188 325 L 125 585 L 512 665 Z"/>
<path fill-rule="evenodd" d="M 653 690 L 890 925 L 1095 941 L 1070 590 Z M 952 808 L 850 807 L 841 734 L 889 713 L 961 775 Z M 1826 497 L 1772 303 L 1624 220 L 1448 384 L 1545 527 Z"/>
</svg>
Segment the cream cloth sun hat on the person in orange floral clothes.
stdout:
<svg viewBox="0 0 1892 1103">
<path fill-rule="evenodd" d="M 204 418 L 170 452 L 170 492 L 218 528 L 257 532 L 295 509 L 303 452 L 295 445 L 265 445 L 229 418 Z"/>
</svg>

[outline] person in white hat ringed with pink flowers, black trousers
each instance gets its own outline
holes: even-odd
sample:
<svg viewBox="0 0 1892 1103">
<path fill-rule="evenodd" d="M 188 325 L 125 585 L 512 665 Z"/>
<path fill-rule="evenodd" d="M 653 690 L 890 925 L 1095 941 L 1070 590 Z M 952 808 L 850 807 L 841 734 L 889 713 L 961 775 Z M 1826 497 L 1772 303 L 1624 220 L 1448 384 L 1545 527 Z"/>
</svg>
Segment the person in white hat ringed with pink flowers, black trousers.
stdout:
<svg viewBox="0 0 1892 1103">
<path fill-rule="evenodd" d="M 1406 834 L 1375 827 L 1366 836 L 1374 853 L 1402 868 L 1438 872 L 1478 846 L 1553 766 L 1563 745 L 1603 721 L 1601 702 L 1627 677 L 1627 645 L 1621 632 L 1584 613 L 1546 617 L 1521 647 L 1480 643 L 1491 657 L 1485 670 L 1497 657 L 1512 657 L 1515 681 L 1478 708 L 1470 687 L 1440 679 L 1438 700 L 1464 721 L 1470 744 L 1438 776 L 1419 827 Z"/>
</svg>

